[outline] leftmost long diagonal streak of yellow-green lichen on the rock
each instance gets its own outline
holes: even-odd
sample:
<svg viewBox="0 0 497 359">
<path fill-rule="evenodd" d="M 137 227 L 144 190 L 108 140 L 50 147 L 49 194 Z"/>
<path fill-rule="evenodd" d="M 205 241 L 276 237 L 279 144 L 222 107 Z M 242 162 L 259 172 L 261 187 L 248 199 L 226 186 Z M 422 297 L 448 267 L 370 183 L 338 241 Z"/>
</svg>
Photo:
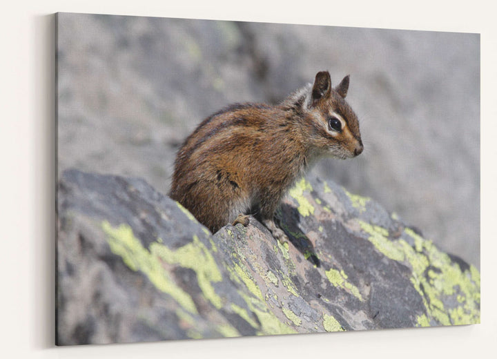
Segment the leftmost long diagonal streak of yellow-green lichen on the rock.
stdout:
<svg viewBox="0 0 497 359">
<path fill-rule="evenodd" d="M 142 246 L 142 242 L 133 235 L 130 226 L 121 224 L 114 228 L 109 222 L 104 221 L 101 227 L 107 235 L 110 251 L 119 255 L 126 266 L 133 271 L 142 271 L 159 291 L 173 297 L 186 311 L 197 313 L 191 296 L 170 278 L 157 255 L 150 253 Z M 161 244 L 157 243 L 157 245 Z"/>
</svg>

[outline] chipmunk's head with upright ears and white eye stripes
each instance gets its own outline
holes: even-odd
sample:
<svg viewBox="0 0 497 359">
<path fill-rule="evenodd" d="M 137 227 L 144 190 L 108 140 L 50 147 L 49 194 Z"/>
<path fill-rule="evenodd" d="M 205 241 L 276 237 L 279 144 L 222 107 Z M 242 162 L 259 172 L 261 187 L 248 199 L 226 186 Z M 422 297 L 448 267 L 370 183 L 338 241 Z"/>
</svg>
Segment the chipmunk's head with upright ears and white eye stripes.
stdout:
<svg viewBox="0 0 497 359">
<path fill-rule="evenodd" d="M 349 79 L 347 75 L 333 88 L 329 72 L 318 72 L 308 102 L 313 146 L 320 153 L 341 159 L 360 155 L 364 149 L 358 118 L 345 101 Z"/>
</svg>

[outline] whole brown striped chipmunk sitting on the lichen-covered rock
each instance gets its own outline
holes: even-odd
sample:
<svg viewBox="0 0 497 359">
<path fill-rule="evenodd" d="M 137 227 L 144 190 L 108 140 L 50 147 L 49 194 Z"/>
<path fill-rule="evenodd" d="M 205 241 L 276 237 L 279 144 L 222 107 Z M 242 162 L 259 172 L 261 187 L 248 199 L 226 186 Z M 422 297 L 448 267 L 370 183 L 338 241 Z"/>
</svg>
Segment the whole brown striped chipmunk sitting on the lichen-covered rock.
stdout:
<svg viewBox="0 0 497 359">
<path fill-rule="evenodd" d="M 348 90 L 349 75 L 332 88 L 321 71 L 280 104 L 233 104 L 207 117 L 177 153 L 170 197 L 213 233 L 246 226 L 257 208 L 257 219 L 286 242 L 273 218 L 286 191 L 320 157 L 362 153 Z"/>
</svg>

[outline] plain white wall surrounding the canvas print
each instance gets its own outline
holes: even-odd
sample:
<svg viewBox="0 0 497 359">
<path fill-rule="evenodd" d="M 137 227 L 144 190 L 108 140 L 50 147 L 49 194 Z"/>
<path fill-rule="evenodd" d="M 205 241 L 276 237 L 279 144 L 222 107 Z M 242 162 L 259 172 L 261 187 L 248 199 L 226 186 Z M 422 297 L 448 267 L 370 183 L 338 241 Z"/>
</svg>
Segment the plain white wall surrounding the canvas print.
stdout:
<svg viewBox="0 0 497 359">
<path fill-rule="evenodd" d="M 21 1 L 3 4 L 0 31 L 0 353 L 6 358 L 485 358 L 497 339 L 496 9 L 489 1 Z M 286 4 L 286 5 L 285 5 Z M 229 8 L 231 7 L 231 8 Z M 231 340 L 57 348 L 53 33 L 50 14 L 94 12 L 338 26 L 480 32 L 482 46 L 482 324 Z M 464 113 L 461 113 L 464 116 Z M 488 350 L 488 353 L 485 351 Z"/>
</svg>

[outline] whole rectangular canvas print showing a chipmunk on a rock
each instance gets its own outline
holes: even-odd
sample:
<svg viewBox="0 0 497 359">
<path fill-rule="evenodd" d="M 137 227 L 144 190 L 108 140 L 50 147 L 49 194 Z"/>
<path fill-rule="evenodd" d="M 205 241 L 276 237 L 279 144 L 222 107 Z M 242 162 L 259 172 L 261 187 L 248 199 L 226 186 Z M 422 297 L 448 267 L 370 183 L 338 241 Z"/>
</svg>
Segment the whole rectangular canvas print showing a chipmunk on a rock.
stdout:
<svg viewBox="0 0 497 359">
<path fill-rule="evenodd" d="M 57 345 L 480 322 L 478 34 L 56 27 Z"/>
</svg>

